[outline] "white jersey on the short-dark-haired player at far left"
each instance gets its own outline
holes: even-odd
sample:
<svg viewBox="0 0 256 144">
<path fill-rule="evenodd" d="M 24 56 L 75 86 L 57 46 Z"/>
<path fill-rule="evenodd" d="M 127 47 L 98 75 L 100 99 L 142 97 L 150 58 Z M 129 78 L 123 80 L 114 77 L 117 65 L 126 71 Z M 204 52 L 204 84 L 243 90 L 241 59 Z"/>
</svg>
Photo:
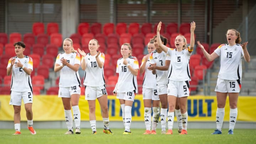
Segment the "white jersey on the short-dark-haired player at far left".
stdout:
<svg viewBox="0 0 256 144">
<path fill-rule="evenodd" d="M 27 68 L 33 71 L 33 60 L 31 57 L 25 56 L 24 58 L 15 58 L 15 63 L 20 60 L 20 62 Z M 11 59 L 9 59 L 7 69 L 11 66 Z M 11 79 L 11 91 L 25 92 L 32 90 L 31 77 L 26 74 L 22 68 L 15 68 L 15 65 L 12 66 L 12 79 Z"/>
</svg>

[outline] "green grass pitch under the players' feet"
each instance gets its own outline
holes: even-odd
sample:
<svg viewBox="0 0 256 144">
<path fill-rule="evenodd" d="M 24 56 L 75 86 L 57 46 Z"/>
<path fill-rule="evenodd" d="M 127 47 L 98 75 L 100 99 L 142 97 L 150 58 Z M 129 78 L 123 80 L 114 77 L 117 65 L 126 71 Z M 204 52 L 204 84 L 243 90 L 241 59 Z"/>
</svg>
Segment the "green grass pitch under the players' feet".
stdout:
<svg viewBox="0 0 256 144">
<path fill-rule="evenodd" d="M 256 129 L 235 129 L 234 135 L 228 135 L 228 129 L 222 134 L 211 135 L 214 129 L 188 129 L 187 135 L 179 135 L 174 129 L 173 135 L 143 135 L 144 129 L 131 129 L 131 135 L 123 135 L 123 129 L 112 129 L 113 135 L 104 134 L 97 129 L 92 135 L 90 129 L 81 129 L 81 134 L 64 135 L 66 129 L 35 129 L 32 135 L 27 129 L 21 129 L 21 135 L 12 135 L 13 129 L 0 130 L 0 144 L 252 144 L 256 143 Z"/>
</svg>

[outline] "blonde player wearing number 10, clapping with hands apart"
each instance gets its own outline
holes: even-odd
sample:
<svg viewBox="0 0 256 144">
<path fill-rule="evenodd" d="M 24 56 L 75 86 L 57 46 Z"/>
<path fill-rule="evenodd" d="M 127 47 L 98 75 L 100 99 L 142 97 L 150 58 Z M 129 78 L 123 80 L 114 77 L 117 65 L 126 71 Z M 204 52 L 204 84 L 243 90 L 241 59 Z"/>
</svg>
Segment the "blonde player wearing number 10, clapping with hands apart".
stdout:
<svg viewBox="0 0 256 144">
<path fill-rule="evenodd" d="M 78 49 L 78 52 L 82 55 L 81 67 L 82 70 L 85 70 L 85 99 L 89 104 L 89 118 L 92 134 L 97 134 L 95 116 L 96 99 L 98 99 L 102 110 L 102 119 L 104 124 L 103 132 L 106 134 L 113 134 L 109 129 L 107 90 L 105 87 L 103 73 L 105 55 L 100 51 L 97 52 L 98 47 L 100 47 L 98 41 L 96 39 L 91 39 L 89 42 L 90 53 L 86 54 L 84 50 L 81 51 Z"/>
</svg>

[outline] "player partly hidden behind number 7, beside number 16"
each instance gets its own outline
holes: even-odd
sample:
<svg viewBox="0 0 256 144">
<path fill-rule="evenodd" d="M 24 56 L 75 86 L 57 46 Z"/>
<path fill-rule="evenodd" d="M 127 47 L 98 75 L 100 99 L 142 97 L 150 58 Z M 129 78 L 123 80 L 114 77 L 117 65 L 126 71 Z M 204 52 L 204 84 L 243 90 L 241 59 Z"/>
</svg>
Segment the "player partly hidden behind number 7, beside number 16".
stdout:
<svg viewBox="0 0 256 144">
<path fill-rule="evenodd" d="M 153 119 L 152 119 L 152 134 L 156 134 L 156 126 L 159 121 L 159 105 L 160 99 L 156 89 L 156 75 L 153 75 L 150 70 L 147 68 L 150 65 L 149 57 L 150 53 L 155 50 L 154 41 L 151 40 L 148 43 L 148 52 L 149 54 L 145 55 L 142 59 L 142 64 L 140 65 L 140 73 L 142 74 L 145 71 L 143 79 L 143 102 L 144 102 L 144 119 L 146 125 L 146 131 L 143 134 L 151 134 L 151 101 L 153 106 Z M 145 69 L 146 68 L 146 69 Z"/>
</svg>

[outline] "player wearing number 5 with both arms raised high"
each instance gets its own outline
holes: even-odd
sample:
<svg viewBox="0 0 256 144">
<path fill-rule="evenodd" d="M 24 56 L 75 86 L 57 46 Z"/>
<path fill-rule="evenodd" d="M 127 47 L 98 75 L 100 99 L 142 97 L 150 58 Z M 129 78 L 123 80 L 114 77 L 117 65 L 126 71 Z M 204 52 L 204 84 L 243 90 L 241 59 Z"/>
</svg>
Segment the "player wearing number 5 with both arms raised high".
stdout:
<svg viewBox="0 0 256 144">
<path fill-rule="evenodd" d="M 180 134 L 187 134 L 187 97 L 190 94 L 189 91 L 189 83 L 188 81 L 191 80 L 190 78 L 190 71 L 189 71 L 189 60 L 190 55 L 193 51 L 194 47 L 194 30 L 196 28 L 196 23 L 191 22 L 191 39 L 190 39 L 190 47 L 186 48 L 186 39 L 183 36 L 177 36 L 175 39 L 175 47 L 176 49 L 171 49 L 164 46 L 160 39 L 160 30 L 161 30 L 161 23 L 158 24 L 157 29 L 157 42 L 159 47 L 170 55 L 171 63 L 170 63 L 170 71 L 168 74 L 169 83 L 168 83 L 168 104 L 169 104 L 169 111 L 168 111 L 168 132 L 166 134 L 172 134 L 172 127 L 174 121 L 174 109 L 177 98 L 179 99 L 180 103 L 180 111 L 181 111 L 181 118 L 182 118 L 182 131 Z"/>
</svg>

